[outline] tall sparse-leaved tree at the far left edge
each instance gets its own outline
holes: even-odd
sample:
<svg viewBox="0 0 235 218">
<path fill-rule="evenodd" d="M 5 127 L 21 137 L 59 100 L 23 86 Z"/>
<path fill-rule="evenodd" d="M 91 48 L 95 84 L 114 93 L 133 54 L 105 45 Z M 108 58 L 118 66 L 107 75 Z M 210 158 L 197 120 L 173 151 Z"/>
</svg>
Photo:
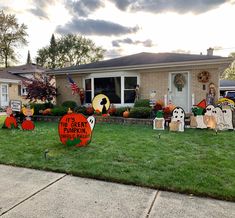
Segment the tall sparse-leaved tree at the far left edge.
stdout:
<svg viewBox="0 0 235 218">
<path fill-rule="evenodd" d="M 27 26 L 18 24 L 15 15 L 0 11 L 0 59 L 5 67 L 9 62 L 16 62 L 15 49 L 27 45 Z"/>
</svg>

